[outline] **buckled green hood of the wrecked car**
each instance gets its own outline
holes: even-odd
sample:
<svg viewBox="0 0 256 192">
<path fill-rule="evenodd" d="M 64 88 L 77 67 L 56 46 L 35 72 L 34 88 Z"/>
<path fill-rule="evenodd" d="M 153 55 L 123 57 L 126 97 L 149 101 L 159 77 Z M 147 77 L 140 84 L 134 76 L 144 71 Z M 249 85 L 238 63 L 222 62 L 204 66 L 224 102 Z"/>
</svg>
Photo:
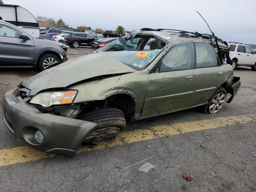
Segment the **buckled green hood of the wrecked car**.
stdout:
<svg viewBox="0 0 256 192">
<path fill-rule="evenodd" d="M 50 88 L 65 88 L 89 78 L 136 72 L 108 54 L 88 54 L 55 67 L 46 69 L 29 78 L 22 85 L 31 90 L 31 95 Z"/>
</svg>

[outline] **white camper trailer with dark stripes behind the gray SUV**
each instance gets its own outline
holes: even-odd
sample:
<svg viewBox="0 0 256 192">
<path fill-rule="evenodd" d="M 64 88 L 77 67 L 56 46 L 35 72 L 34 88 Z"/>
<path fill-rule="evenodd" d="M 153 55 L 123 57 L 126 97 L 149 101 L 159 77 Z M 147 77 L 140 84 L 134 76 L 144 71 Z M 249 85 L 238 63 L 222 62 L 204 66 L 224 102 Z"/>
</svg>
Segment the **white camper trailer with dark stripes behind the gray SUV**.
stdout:
<svg viewBox="0 0 256 192">
<path fill-rule="evenodd" d="M 16 25 L 37 38 L 40 37 L 36 18 L 21 6 L 0 4 L 0 20 Z"/>
</svg>

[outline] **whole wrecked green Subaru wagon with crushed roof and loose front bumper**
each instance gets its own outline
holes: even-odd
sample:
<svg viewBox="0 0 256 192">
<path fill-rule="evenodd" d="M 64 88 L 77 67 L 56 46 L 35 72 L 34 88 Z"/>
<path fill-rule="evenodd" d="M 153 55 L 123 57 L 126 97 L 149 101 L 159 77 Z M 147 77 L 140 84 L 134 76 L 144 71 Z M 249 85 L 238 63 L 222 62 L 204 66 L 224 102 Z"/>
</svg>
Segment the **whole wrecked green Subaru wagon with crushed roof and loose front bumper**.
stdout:
<svg viewBox="0 0 256 192">
<path fill-rule="evenodd" d="M 236 95 L 239 79 L 226 42 L 144 28 L 9 90 L 3 117 L 22 144 L 72 156 L 83 143 L 113 138 L 128 119 L 197 106 L 216 113 Z"/>
</svg>

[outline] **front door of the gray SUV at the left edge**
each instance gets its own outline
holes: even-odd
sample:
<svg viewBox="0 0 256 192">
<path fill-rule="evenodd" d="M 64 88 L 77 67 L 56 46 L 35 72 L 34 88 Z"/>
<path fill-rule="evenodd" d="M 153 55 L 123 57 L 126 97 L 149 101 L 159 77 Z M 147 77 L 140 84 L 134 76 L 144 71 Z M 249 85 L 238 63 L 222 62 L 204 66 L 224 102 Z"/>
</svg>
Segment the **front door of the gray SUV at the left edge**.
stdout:
<svg viewBox="0 0 256 192">
<path fill-rule="evenodd" d="M 20 38 L 21 31 L 0 24 L 0 65 L 33 65 L 34 41 Z"/>
</svg>

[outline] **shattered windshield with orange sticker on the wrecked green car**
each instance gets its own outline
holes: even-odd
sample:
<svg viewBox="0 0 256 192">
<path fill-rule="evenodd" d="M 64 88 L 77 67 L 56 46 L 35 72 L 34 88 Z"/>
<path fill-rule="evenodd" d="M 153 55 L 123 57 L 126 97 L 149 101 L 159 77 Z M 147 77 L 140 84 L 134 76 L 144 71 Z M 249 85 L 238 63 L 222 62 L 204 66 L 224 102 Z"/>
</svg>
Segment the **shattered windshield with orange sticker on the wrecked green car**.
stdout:
<svg viewBox="0 0 256 192">
<path fill-rule="evenodd" d="M 108 54 L 135 70 L 143 70 L 164 46 L 164 42 L 153 36 L 132 34 L 118 38 L 92 53 Z"/>
</svg>

